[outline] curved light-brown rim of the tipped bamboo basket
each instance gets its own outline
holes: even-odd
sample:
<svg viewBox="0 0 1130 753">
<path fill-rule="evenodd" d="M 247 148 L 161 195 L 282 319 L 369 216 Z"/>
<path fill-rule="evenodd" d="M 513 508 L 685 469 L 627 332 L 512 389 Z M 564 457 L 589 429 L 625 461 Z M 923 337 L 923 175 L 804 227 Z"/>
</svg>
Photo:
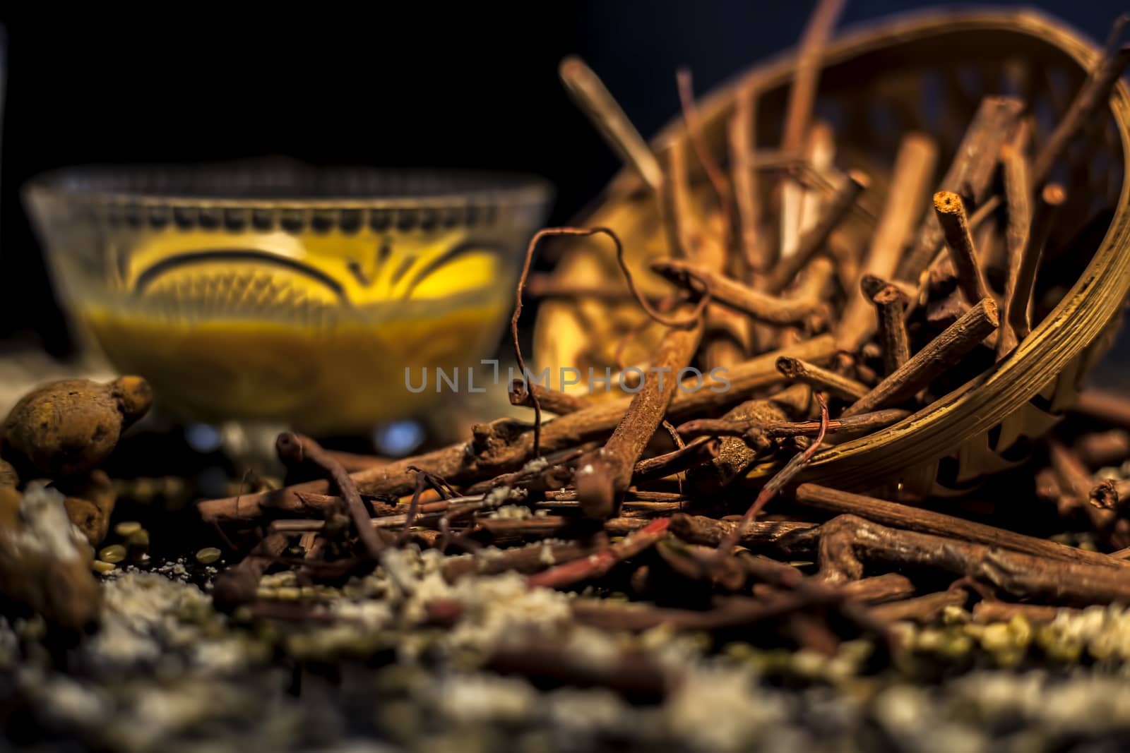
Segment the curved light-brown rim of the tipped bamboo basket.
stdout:
<svg viewBox="0 0 1130 753">
<path fill-rule="evenodd" d="M 984 32 L 993 28 L 1023 33 L 1058 47 L 1083 70 L 1090 70 L 1101 59 L 1102 52 L 1096 44 L 1036 10 L 932 9 L 899 14 L 836 36 L 825 49 L 822 65 L 846 62 L 895 43 L 913 43 L 963 29 Z M 788 84 L 796 58 L 796 50 L 786 51 L 720 84 L 699 102 L 702 122 L 724 116 L 732 107 L 732 95 L 738 87 L 772 88 Z M 1118 205 L 1125 207 L 1130 202 L 1130 89 L 1121 79 L 1111 95 L 1110 107 L 1119 126 L 1123 159 Z M 669 140 L 686 138 L 686 129 L 675 120 L 651 139 L 651 145 L 661 147 Z M 625 167 L 608 184 L 606 198 L 625 195 L 641 185 Z M 1130 274 L 1104 274 L 1104 271 L 1128 265 L 1130 212 L 1121 211 L 1115 212 L 1076 283 L 1008 358 L 898 423 L 820 449 L 798 482 L 835 479 L 837 487 L 844 489 L 875 488 L 876 479 L 889 480 L 949 452 L 939 452 L 937 447 L 956 448 L 964 440 L 988 431 L 1038 394 L 1048 385 L 1048 375 L 1060 373 L 1120 314 L 1130 291 Z M 851 474 L 845 473 L 849 470 Z M 772 469 L 757 467 L 751 475 L 770 471 Z"/>
</svg>

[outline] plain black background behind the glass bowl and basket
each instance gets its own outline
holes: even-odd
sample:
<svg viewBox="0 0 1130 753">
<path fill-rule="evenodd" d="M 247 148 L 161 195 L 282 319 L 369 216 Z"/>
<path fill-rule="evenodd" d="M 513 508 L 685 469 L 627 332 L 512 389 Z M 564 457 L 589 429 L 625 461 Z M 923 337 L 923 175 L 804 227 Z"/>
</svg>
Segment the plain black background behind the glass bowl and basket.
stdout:
<svg viewBox="0 0 1130 753">
<path fill-rule="evenodd" d="M 849 2 L 841 26 L 936 5 Z M 1110 0 L 993 5 L 1038 7 L 1099 42 L 1124 9 Z M 380 15 L 366 17 L 299 3 L 245 21 L 175 6 L 151 21 L 84 20 L 61 9 L 56 18 L 6 19 L 0 340 L 38 341 L 60 356 L 69 349 L 19 199 L 42 170 L 261 155 L 516 169 L 556 184 L 550 221 L 565 222 L 618 166 L 557 81 L 565 54 L 581 54 L 650 135 L 678 110 L 677 67 L 689 65 L 702 91 L 792 46 L 811 6 L 374 7 Z"/>
</svg>

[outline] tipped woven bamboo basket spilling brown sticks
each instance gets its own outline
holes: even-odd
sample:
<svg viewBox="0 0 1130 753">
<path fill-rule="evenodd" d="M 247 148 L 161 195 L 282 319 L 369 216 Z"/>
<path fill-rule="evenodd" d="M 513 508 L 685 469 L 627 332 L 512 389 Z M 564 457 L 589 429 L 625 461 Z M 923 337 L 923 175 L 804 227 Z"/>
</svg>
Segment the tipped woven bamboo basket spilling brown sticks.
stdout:
<svg viewBox="0 0 1130 753">
<path fill-rule="evenodd" d="M 1028 103 L 1038 143 L 1099 58 L 1096 46 L 1032 11 L 901 17 L 828 45 L 815 112 L 835 128 L 837 165 L 868 172 L 870 192 L 881 198 L 903 133 L 924 131 L 938 140 L 940 173 L 980 99 L 1006 94 Z M 793 58 L 785 56 L 754 68 L 698 103 L 705 139 L 720 160 L 727 159 L 727 121 L 741 87 L 756 91 L 758 148 L 780 143 L 793 64 Z M 686 138 L 679 119 L 653 146 Z M 958 494 L 985 474 L 1023 462 L 1034 440 L 1077 399 L 1086 374 L 1112 344 L 1130 289 L 1125 84 L 1115 87 L 1109 108 L 1077 141 L 1055 167 L 1057 180 L 1071 196 L 1054 233 L 1064 242 L 1076 238 L 1067 252 L 1078 259 L 1076 269 L 1081 270 L 1074 286 L 1007 359 L 897 424 L 822 449 L 806 472 L 807 480 L 901 499 Z M 693 154 L 689 148 L 688 154 Z M 698 169 L 697 160 L 688 161 L 692 172 Z M 703 175 L 692 178 L 696 199 L 712 201 Z M 668 253 L 655 202 L 627 170 L 614 178 L 602 203 L 579 224 L 616 230 L 640 278 L 654 279 L 645 271 L 647 261 Z M 1080 233 L 1088 224 L 1090 239 Z M 555 251 L 560 254 L 555 274 L 565 282 L 618 277 L 600 239 L 570 240 Z M 602 368 L 606 362 L 579 343 L 590 342 L 588 333 L 598 324 L 623 332 L 641 319 L 638 309 L 625 304 L 546 301 L 534 333 L 534 356 L 539 366 L 594 362 Z M 650 336 L 641 334 L 637 344 L 654 343 L 658 329 L 651 327 L 657 331 Z M 751 475 L 765 472 L 756 469 Z"/>
</svg>

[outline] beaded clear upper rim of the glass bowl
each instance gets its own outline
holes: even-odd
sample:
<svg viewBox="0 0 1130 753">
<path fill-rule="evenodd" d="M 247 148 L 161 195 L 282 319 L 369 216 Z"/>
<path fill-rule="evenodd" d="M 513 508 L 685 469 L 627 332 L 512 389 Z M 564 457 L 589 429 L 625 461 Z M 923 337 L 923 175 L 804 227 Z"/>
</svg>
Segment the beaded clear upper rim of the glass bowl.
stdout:
<svg viewBox="0 0 1130 753">
<path fill-rule="evenodd" d="M 253 181 L 277 180 L 282 190 L 273 195 L 240 195 L 236 185 Z M 175 183 L 216 181 L 209 190 L 141 190 L 130 181 Z M 353 190 L 340 193 L 285 191 L 290 185 L 312 181 L 342 185 L 353 182 Z M 113 185 L 115 182 L 122 187 Z M 391 187 L 417 182 L 416 190 L 381 193 L 359 185 L 389 182 Z M 199 185 L 199 184 L 198 184 Z M 260 191 L 268 183 L 259 183 Z M 532 173 L 480 170 L 462 168 L 383 168 L 364 165 L 314 166 L 290 159 L 251 159 L 217 163 L 138 163 L 88 164 L 60 167 L 29 178 L 21 187 L 26 199 L 52 198 L 97 204 L 136 204 L 139 207 L 214 207 L 238 209 L 397 209 L 449 207 L 476 202 L 502 204 L 544 204 L 554 195 L 553 184 Z"/>
</svg>

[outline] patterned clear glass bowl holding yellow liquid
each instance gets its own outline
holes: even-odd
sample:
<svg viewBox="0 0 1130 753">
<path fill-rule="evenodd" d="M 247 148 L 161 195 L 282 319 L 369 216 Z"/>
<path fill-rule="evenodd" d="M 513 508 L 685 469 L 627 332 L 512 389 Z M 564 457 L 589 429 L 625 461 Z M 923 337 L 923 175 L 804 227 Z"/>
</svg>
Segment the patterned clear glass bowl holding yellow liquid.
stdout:
<svg viewBox="0 0 1130 753">
<path fill-rule="evenodd" d="M 443 395 L 406 369 L 418 385 L 493 352 L 550 193 L 271 161 L 64 169 L 25 200 L 64 305 L 118 369 L 185 419 L 324 435 L 418 415 Z"/>
</svg>

